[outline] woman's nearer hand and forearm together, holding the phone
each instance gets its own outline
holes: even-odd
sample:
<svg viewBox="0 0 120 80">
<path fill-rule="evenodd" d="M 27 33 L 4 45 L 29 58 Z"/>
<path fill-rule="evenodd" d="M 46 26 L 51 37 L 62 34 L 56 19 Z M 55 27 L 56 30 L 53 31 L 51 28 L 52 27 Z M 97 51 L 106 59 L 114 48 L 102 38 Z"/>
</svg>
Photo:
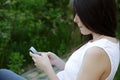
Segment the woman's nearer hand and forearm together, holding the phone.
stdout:
<svg viewBox="0 0 120 80">
<path fill-rule="evenodd" d="M 47 52 L 40 52 L 40 55 L 30 52 L 30 56 L 35 62 L 36 67 L 42 69 L 48 75 L 50 80 L 59 80 L 51 66 Z"/>
</svg>

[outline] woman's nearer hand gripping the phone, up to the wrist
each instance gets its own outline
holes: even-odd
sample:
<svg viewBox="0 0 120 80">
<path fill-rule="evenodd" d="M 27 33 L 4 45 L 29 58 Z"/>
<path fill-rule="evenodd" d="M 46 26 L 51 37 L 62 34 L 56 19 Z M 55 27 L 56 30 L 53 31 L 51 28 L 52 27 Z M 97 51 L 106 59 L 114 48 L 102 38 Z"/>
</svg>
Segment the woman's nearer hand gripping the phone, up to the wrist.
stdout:
<svg viewBox="0 0 120 80">
<path fill-rule="evenodd" d="M 38 55 L 30 52 L 30 56 L 34 61 L 35 66 L 44 71 L 48 70 L 51 67 L 50 60 L 46 53 L 47 52 L 40 52 L 40 55 Z"/>
</svg>

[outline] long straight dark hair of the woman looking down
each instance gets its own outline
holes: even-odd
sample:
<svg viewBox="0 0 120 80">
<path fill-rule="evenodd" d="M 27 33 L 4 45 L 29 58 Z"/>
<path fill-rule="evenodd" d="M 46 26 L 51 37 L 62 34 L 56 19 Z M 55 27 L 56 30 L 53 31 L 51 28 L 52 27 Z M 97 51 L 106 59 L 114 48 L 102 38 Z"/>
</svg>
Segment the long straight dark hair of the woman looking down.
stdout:
<svg viewBox="0 0 120 80">
<path fill-rule="evenodd" d="M 101 35 L 116 37 L 115 0 L 73 0 L 73 8 L 89 30 Z M 92 38 L 91 35 L 88 37 Z"/>
</svg>

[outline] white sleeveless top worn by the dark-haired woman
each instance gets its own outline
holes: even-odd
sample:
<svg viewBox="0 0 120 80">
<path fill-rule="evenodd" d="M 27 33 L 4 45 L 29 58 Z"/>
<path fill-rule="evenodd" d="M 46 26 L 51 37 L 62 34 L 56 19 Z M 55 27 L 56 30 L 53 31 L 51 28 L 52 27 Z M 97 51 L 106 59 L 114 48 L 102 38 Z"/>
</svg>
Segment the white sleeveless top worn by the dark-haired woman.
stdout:
<svg viewBox="0 0 120 80">
<path fill-rule="evenodd" d="M 94 42 L 88 42 L 81 48 L 76 50 L 68 59 L 65 69 L 57 73 L 59 80 L 77 80 L 77 75 L 81 67 L 84 55 L 88 48 L 93 46 L 100 47 L 105 50 L 111 62 L 111 72 L 106 80 L 113 80 L 118 69 L 120 59 L 119 42 L 113 43 L 107 39 L 100 39 Z"/>
</svg>

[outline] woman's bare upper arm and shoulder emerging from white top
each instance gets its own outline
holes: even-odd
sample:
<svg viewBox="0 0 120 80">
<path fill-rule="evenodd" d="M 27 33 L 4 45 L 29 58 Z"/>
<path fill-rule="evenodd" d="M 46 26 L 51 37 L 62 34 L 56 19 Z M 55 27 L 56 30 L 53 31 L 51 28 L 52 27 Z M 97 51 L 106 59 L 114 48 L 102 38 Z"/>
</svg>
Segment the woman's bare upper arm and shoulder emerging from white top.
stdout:
<svg viewBox="0 0 120 80">
<path fill-rule="evenodd" d="M 100 80 L 107 66 L 106 53 L 99 47 L 87 50 L 77 80 Z"/>
</svg>

